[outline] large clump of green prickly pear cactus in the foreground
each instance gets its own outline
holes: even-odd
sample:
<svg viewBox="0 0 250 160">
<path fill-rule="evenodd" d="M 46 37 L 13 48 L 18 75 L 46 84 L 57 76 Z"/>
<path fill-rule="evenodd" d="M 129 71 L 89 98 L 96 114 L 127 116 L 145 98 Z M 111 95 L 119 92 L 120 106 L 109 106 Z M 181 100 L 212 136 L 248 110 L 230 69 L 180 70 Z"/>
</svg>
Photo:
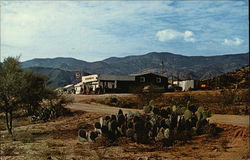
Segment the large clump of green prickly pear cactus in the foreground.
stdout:
<svg viewBox="0 0 250 160">
<path fill-rule="evenodd" d="M 171 145 L 176 140 L 185 140 L 196 134 L 209 133 L 211 128 L 207 118 L 210 111 L 193 105 L 178 105 L 160 108 L 151 101 L 143 108 L 145 114 L 129 112 L 100 118 L 94 124 L 95 130 L 86 133 L 79 130 L 80 141 L 95 141 L 98 136 L 105 136 L 114 141 L 118 137 L 129 137 L 137 143 L 150 141 Z"/>
</svg>

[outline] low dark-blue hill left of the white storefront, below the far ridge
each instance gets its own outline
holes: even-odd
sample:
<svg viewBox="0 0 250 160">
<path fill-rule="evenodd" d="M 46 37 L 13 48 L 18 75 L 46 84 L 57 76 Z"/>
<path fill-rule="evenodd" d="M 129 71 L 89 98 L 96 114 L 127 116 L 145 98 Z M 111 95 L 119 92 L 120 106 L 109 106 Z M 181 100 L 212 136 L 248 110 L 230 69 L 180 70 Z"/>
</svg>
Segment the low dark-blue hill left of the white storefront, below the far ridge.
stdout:
<svg viewBox="0 0 250 160">
<path fill-rule="evenodd" d="M 35 73 L 40 73 L 48 76 L 49 80 L 52 82 L 52 88 L 57 88 L 65 86 L 71 83 L 77 83 L 81 79 L 76 79 L 75 71 L 65 71 L 56 68 L 44 68 L 44 67 L 30 67 L 27 68 Z M 88 73 L 83 72 L 83 75 L 88 75 Z"/>
</svg>

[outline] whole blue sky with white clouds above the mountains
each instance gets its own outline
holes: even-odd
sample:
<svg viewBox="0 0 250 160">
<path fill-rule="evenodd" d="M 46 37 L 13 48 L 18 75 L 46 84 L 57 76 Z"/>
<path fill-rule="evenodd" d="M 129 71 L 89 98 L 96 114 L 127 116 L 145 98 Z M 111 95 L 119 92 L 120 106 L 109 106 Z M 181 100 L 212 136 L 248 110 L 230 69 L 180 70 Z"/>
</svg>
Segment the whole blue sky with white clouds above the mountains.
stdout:
<svg viewBox="0 0 250 160">
<path fill-rule="evenodd" d="M 0 1 L 1 57 L 249 51 L 248 1 Z"/>
</svg>

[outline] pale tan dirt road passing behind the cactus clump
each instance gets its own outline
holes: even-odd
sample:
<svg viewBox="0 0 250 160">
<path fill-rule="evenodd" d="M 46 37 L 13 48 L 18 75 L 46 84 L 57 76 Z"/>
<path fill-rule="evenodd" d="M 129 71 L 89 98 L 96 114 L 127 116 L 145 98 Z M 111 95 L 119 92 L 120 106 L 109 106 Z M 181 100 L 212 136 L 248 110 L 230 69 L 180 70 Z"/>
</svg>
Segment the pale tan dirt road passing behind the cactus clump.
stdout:
<svg viewBox="0 0 250 160">
<path fill-rule="evenodd" d="M 115 114 L 119 109 L 122 109 L 125 113 L 131 112 L 142 112 L 139 109 L 127 109 L 127 108 L 117 108 L 111 107 L 102 104 L 83 104 L 83 103 L 73 103 L 68 106 L 68 108 L 73 110 L 82 110 L 87 112 L 95 112 L 95 113 L 104 113 L 104 114 Z M 209 118 L 211 123 L 219 123 L 219 124 L 230 124 L 234 126 L 240 127 L 249 127 L 249 116 L 246 115 L 221 115 L 221 114 L 213 114 L 211 118 Z"/>
</svg>

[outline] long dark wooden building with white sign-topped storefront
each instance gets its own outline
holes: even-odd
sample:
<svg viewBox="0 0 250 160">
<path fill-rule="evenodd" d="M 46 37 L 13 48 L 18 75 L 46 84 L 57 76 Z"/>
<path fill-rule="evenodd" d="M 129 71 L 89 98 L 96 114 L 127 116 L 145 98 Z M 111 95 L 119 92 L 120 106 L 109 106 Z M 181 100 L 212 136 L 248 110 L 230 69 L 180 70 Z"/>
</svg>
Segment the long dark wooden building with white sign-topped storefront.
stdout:
<svg viewBox="0 0 250 160">
<path fill-rule="evenodd" d="M 167 90 L 168 78 L 154 73 L 134 75 L 93 74 L 82 76 L 75 85 L 76 94 L 128 93 L 145 86 L 154 86 Z"/>
</svg>

